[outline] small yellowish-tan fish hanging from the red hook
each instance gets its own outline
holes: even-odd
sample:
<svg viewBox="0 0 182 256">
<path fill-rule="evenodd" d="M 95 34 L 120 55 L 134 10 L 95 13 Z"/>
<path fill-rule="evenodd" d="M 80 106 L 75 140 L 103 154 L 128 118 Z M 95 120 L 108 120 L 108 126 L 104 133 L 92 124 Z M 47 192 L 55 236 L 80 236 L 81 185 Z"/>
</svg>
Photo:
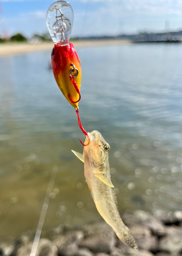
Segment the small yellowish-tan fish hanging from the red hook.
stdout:
<svg viewBox="0 0 182 256">
<path fill-rule="evenodd" d="M 72 151 L 84 162 L 84 174 L 96 208 L 102 218 L 113 228 L 117 237 L 128 246 L 138 249 L 128 227 L 124 225 L 117 207 L 114 185 L 111 181 L 109 154 L 110 145 L 98 131 L 88 133 L 84 153 Z"/>
</svg>

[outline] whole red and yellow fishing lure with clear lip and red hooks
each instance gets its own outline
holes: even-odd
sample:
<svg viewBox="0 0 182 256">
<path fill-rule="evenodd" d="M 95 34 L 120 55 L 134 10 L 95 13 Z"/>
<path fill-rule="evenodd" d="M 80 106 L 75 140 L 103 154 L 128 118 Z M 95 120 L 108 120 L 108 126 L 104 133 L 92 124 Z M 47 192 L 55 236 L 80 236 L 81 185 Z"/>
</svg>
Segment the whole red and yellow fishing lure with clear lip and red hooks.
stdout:
<svg viewBox="0 0 182 256">
<path fill-rule="evenodd" d="M 46 22 L 49 33 L 55 42 L 55 47 L 51 53 L 55 80 L 65 98 L 75 109 L 81 130 L 85 135 L 88 135 L 83 129 L 79 117 L 82 78 L 81 62 L 73 45 L 69 43 L 73 24 L 71 6 L 65 1 L 53 3 L 47 11 Z M 82 141 L 81 143 L 83 144 Z"/>
</svg>

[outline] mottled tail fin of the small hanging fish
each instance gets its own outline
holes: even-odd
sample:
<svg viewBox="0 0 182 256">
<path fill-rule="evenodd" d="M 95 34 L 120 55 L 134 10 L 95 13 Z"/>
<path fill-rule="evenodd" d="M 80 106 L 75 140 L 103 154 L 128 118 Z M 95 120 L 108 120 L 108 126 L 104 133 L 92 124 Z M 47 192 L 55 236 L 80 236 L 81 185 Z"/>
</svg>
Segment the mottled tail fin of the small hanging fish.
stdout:
<svg viewBox="0 0 182 256">
<path fill-rule="evenodd" d="M 128 227 L 125 226 L 125 230 L 122 229 L 121 232 L 116 233 L 117 237 L 128 246 L 132 247 L 135 250 L 138 250 L 137 243 L 135 242 L 134 237 L 132 236 L 131 232 L 129 231 Z"/>
</svg>

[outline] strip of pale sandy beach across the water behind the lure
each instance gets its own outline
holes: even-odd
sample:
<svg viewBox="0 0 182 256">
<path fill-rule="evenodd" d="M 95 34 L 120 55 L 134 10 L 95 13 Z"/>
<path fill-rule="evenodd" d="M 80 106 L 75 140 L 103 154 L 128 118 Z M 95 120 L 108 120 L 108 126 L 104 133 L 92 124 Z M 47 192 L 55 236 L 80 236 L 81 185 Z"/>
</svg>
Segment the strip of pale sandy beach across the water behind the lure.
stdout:
<svg viewBox="0 0 182 256">
<path fill-rule="evenodd" d="M 116 46 L 131 44 L 129 40 L 82 40 L 71 41 L 75 48 L 80 47 L 98 47 L 98 46 Z M 18 55 L 28 52 L 38 52 L 50 50 L 54 47 L 53 42 L 44 42 L 42 44 L 1 44 L 0 45 L 0 57 Z"/>
</svg>

